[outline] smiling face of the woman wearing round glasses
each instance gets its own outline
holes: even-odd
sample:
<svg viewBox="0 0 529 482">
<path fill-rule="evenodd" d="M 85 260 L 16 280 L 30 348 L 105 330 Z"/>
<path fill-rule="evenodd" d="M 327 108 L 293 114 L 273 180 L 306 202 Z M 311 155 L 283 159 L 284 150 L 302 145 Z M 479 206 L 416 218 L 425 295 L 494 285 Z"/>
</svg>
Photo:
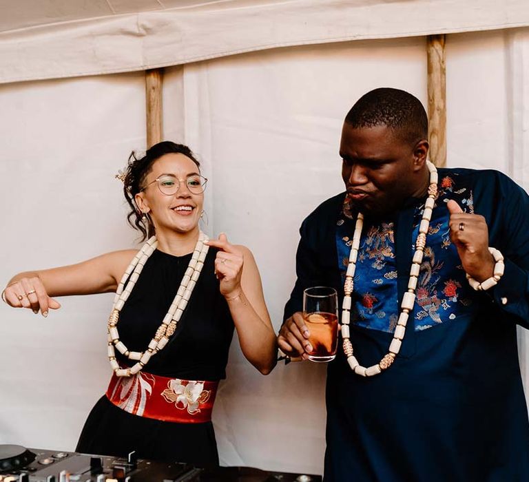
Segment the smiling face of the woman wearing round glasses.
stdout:
<svg viewBox="0 0 529 482">
<path fill-rule="evenodd" d="M 149 213 L 156 232 L 187 233 L 196 228 L 204 205 L 204 193 L 192 193 L 188 184 L 196 185 L 199 174 L 197 165 L 184 154 L 164 154 L 154 161 L 143 181 L 143 191 L 135 198 L 141 211 Z M 178 190 L 167 196 L 158 187 L 160 182 L 166 191 L 179 184 Z"/>
</svg>

